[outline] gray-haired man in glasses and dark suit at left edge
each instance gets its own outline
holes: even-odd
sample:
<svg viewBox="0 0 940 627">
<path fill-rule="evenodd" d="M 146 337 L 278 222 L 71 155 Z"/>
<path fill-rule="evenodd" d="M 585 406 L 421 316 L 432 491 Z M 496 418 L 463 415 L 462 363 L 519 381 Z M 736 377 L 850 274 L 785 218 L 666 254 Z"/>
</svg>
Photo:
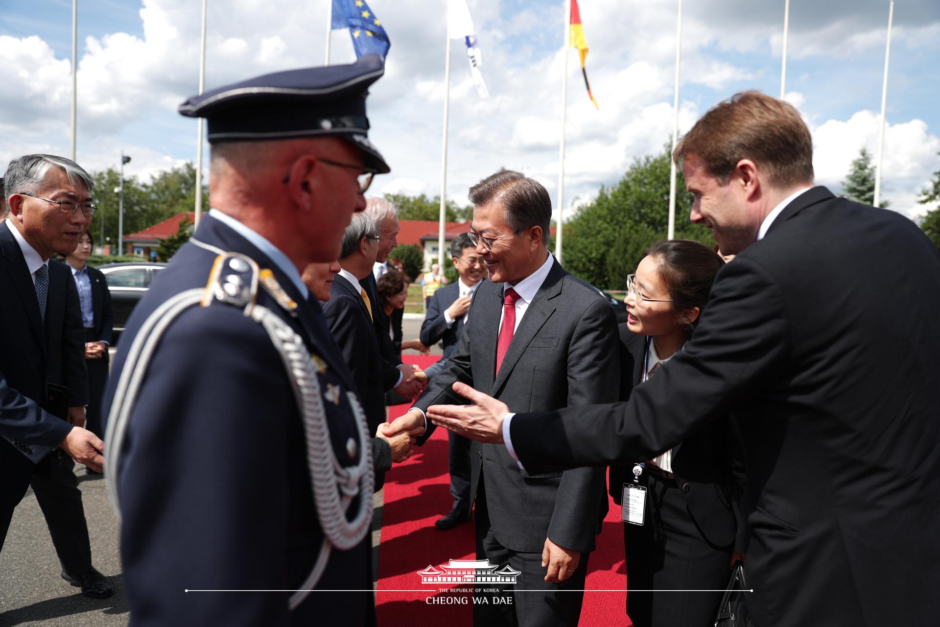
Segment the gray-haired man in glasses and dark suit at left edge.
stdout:
<svg viewBox="0 0 940 627">
<path fill-rule="evenodd" d="M 62 577 L 86 596 L 103 598 L 111 595 L 111 585 L 91 564 L 74 464 L 62 450 L 53 450 L 85 424 L 88 384 L 78 291 L 69 267 L 50 258 L 71 253 L 85 233 L 95 211 L 94 182 L 79 165 L 52 155 L 14 159 L 6 182 L 10 212 L 0 225 L 0 432 L 9 444 L 0 454 L 0 545 L 13 509 L 32 486 Z M 101 449 L 98 438 L 90 442 Z M 89 465 L 101 471 L 102 462 L 98 456 Z"/>
</svg>

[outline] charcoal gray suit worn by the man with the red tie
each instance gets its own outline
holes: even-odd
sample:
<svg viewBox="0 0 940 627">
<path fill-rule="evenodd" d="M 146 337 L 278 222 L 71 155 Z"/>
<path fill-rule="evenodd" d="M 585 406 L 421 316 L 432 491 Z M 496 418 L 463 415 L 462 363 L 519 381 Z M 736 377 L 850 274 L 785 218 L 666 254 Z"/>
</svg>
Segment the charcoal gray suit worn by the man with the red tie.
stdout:
<svg viewBox="0 0 940 627">
<path fill-rule="evenodd" d="M 519 321 L 495 372 L 503 286 L 480 285 L 457 348 L 415 407 L 426 411 L 435 403 L 465 402 L 451 390 L 455 381 L 492 394 L 515 412 L 618 398 L 614 312 L 597 290 L 565 272 L 557 261 Z M 432 431 L 431 424 L 418 442 Z M 478 553 L 500 566 L 508 556 L 512 568 L 523 572 L 519 588 L 546 590 L 515 595 L 521 624 L 576 624 L 582 593 L 558 590 L 584 588 L 587 557 L 594 549 L 599 512 L 606 503 L 603 468 L 529 473 L 519 468 L 505 447 L 476 443 L 470 459 L 471 498 L 480 490 L 484 493 L 477 501 Z M 546 537 L 582 554 L 577 572 L 562 584 L 542 581 L 545 569 L 540 555 Z M 486 606 L 475 606 L 480 609 Z"/>
</svg>

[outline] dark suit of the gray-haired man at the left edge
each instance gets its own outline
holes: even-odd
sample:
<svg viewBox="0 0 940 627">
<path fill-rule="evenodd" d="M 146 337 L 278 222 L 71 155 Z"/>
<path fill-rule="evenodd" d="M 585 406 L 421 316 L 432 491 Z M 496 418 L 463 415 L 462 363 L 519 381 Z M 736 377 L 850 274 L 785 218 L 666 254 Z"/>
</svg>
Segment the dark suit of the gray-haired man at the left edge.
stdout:
<svg viewBox="0 0 940 627">
<path fill-rule="evenodd" d="M 74 462 L 52 450 L 71 425 L 39 409 L 46 383 L 68 387 L 70 407 L 88 400 L 78 291 L 68 266 L 49 261 L 43 324 L 23 251 L 3 224 L 0 249 L 0 432 L 8 441 L 0 444 L 0 546 L 13 509 L 32 486 L 63 569 L 84 574 L 91 568 L 91 547 L 82 493 Z"/>
</svg>

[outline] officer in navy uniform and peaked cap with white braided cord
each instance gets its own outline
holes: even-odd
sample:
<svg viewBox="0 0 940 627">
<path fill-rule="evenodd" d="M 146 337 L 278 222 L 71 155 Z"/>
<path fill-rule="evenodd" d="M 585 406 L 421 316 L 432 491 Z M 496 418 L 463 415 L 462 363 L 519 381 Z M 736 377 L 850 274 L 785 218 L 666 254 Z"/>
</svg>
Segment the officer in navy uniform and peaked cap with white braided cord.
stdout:
<svg viewBox="0 0 940 627">
<path fill-rule="evenodd" d="M 135 308 L 105 402 L 133 625 L 375 621 L 370 434 L 299 269 L 337 259 L 389 171 L 367 139 L 382 73 L 365 56 L 180 105 L 208 119 L 212 209 Z"/>
</svg>

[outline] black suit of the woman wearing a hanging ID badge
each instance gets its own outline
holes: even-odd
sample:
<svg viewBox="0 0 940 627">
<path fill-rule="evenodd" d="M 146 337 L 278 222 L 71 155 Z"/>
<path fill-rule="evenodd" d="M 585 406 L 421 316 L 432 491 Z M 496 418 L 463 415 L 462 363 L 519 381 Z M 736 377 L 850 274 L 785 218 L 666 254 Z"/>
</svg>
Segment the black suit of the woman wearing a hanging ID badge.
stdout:
<svg viewBox="0 0 940 627">
<path fill-rule="evenodd" d="M 628 400 L 652 366 L 647 364 L 649 338 L 635 335 L 626 324 L 619 331 L 620 400 Z M 646 520 L 623 524 L 627 614 L 636 627 L 711 623 L 721 592 L 653 594 L 630 588 L 720 590 L 728 584 L 732 548 L 744 551 L 741 543 L 734 547 L 736 539 L 744 541 L 736 517 L 744 474 L 741 443 L 729 421 L 716 421 L 672 447 L 671 468 L 672 478 L 644 469 L 639 484 L 648 489 Z M 618 504 L 623 484 L 633 482 L 631 467 L 610 467 L 610 494 Z"/>
</svg>

